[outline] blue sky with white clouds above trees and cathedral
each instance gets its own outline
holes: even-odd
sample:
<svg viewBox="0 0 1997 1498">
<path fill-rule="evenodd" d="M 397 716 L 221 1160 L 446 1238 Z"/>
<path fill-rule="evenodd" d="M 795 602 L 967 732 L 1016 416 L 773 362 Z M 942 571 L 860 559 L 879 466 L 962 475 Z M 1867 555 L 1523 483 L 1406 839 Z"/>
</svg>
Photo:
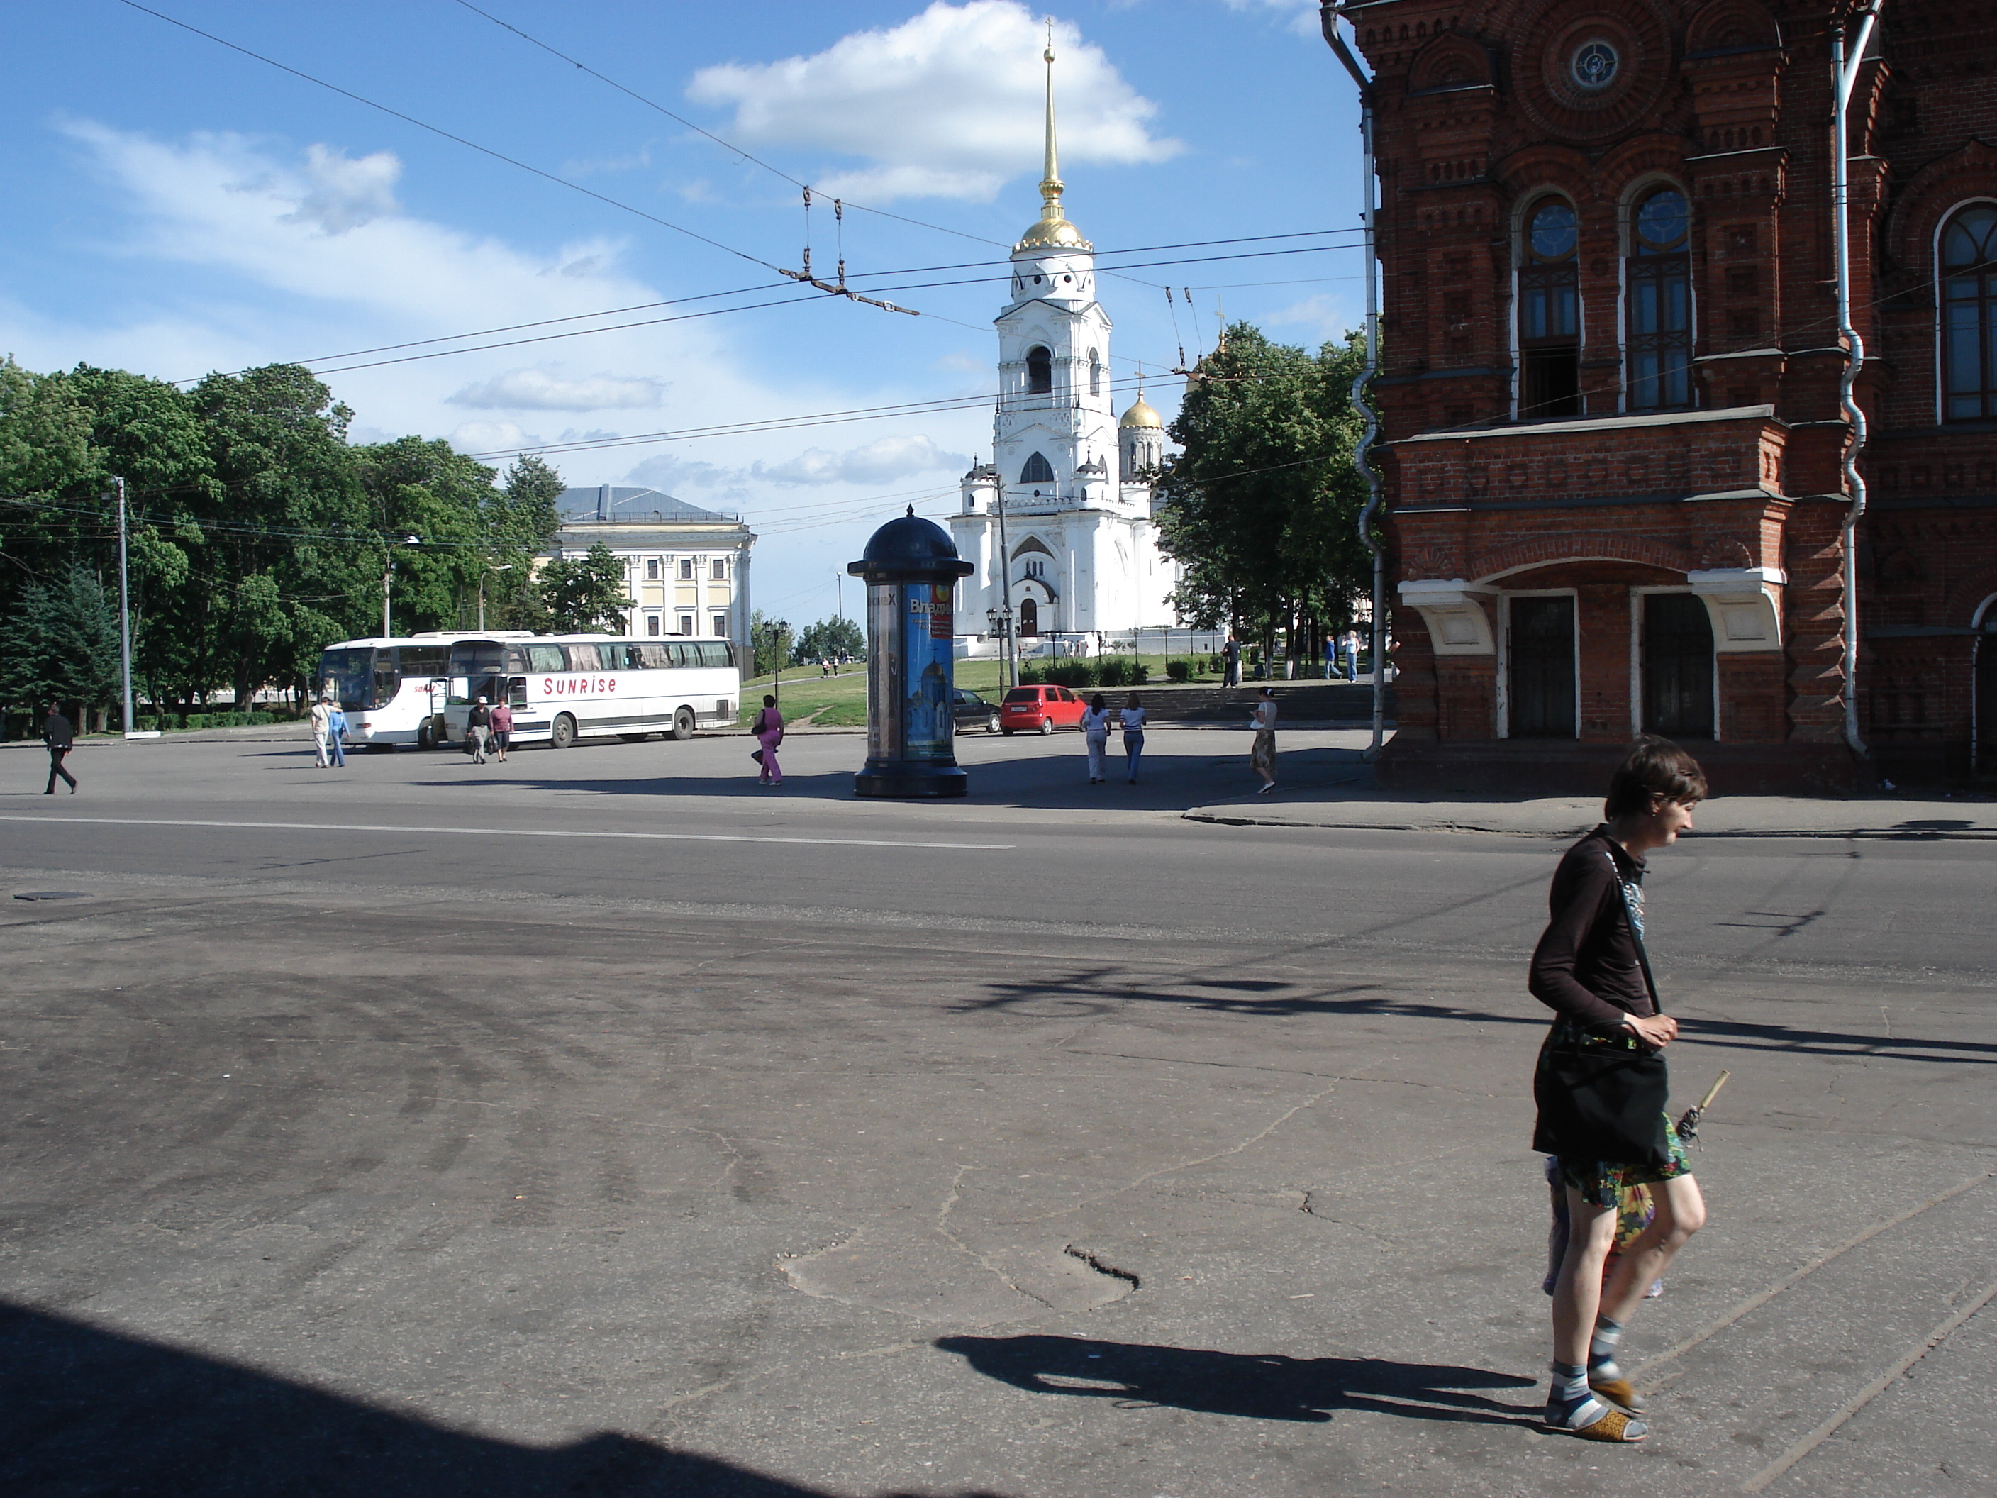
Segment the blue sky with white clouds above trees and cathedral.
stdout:
<svg viewBox="0 0 1997 1498">
<path fill-rule="evenodd" d="M 1042 12 L 475 2 L 487 14 L 461 0 L 148 0 L 547 176 L 120 0 L 8 6 L 0 352 L 34 370 L 90 362 L 164 379 L 312 360 L 355 409 L 359 439 L 415 431 L 473 453 L 579 443 L 549 453 L 571 483 L 651 483 L 739 511 L 763 537 L 757 605 L 793 623 L 831 615 L 833 573 L 877 523 L 907 503 L 951 509 L 991 417 L 975 405 L 797 417 L 991 391 L 993 262 L 1038 210 Z M 1116 377 L 1138 360 L 1158 370 L 1146 393 L 1170 419 L 1178 381 L 1162 372 L 1180 346 L 1192 358 L 1212 344 L 1216 304 L 1298 344 L 1354 326 L 1352 248 L 1144 252 L 1316 230 L 1354 242 L 1356 102 L 1316 6 L 1120 0 L 1054 22 L 1068 214 L 1098 252 L 1130 252 L 1104 256 L 1132 270 L 1100 282 Z M 785 176 L 821 192 L 815 270 L 839 254 L 825 202 L 839 194 L 853 204 L 849 278 L 905 288 L 885 296 L 925 316 L 775 276 L 799 266 L 807 232 Z M 1140 264 L 1244 252 L 1258 254 Z M 1190 288 L 1192 306 L 1168 306 L 1166 284 Z M 707 300 L 647 308 L 683 298 Z M 757 302 L 785 306 L 685 318 Z M 647 310 L 601 316 L 615 308 Z M 571 322 L 324 358 L 547 320 Z M 635 322 L 651 326 L 547 338 Z M 405 358 L 519 338 L 543 342 Z M 607 445 L 745 421 L 769 427 Z"/>
</svg>

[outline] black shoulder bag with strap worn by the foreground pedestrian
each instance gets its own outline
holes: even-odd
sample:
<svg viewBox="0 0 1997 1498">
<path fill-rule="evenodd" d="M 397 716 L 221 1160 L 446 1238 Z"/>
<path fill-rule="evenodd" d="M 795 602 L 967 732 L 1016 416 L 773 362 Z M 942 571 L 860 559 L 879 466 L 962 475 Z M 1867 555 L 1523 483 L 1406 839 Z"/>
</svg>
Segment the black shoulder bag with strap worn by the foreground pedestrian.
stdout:
<svg viewBox="0 0 1997 1498">
<path fill-rule="evenodd" d="M 1614 855 L 1604 851 L 1614 865 Z M 1636 943 L 1650 1003 L 1662 1015 L 1658 981 L 1650 973 L 1644 929 L 1630 909 L 1622 871 L 1614 871 L 1624 919 Z M 1572 1023 L 1556 1023 L 1540 1047 L 1532 1077 L 1532 1097 L 1540 1123 L 1532 1146 L 1542 1154 L 1618 1164 L 1669 1164 L 1671 1144 L 1664 1132 L 1664 1111 L 1671 1077 L 1662 1051 L 1652 1051 L 1634 1035 L 1592 1037 Z"/>
</svg>

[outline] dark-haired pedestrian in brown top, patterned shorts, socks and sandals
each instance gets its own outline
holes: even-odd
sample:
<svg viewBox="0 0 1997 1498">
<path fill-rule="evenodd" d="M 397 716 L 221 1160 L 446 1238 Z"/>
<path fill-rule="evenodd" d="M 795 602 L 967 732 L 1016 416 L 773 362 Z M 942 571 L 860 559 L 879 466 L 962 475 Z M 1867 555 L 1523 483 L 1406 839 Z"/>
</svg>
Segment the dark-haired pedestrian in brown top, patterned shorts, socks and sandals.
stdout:
<svg viewBox="0 0 1997 1498">
<path fill-rule="evenodd" d="M 1540 1051 L 1534 1148 L 1556 1156 L 1568 1194 L 1568 1252 L 1554 1280 L 1554 1386 L 1546 1424 L 1588 1440 L 1644 1440 L 1644 1410 L 1618 1364 L 1624 1326 L 1665 1264 L 1705 1226 L 1705 1200 L 1665 1115 L 1662 1013 L 1644 949 L 1644 855 L 1691 827 L 1705 797 L 1697 761 L 1644 737 L 1610 781 L 1608 821 L 1568 849 L 1532 955 L 1532 993 L 1556 1013 Z M 1616 1244 L 1618 1194 L 1648 1184 L 1656 1216 Z"/>
</svg>

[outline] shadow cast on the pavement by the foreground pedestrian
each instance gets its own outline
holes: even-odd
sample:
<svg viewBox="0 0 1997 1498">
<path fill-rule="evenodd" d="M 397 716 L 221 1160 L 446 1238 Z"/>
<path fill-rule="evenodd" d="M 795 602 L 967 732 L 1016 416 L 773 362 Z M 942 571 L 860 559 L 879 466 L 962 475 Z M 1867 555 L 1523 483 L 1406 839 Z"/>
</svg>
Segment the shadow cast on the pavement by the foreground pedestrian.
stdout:
<svg viewBox="0 0 1997 1498">
<path fill-rule="evenodd" d="M 937 1346 L 1014 1388 L 1112 1400 L 1118 1408 L 1164 1404 L 1200 1414 L 1302 1422 L 1330 1420 L 1334 1410 L 1482 1424 L 1538 1424 L 1540 1418 L 1536 1404 L 1504 1404 L 1472 1392 L 1536 1386 L 1532 1378 L 1484 1368 L 1210 1352 L 1074 1336 L 945 1336 Z"/>
</svg>

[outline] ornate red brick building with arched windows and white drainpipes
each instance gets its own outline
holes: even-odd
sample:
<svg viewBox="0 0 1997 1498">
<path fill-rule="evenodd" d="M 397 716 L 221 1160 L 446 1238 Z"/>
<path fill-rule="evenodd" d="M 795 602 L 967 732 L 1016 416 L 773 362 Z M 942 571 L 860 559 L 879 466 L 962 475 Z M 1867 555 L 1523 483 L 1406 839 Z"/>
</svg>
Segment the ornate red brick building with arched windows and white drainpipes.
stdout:
<svg viewBox="0 0 1997 1498">
<path fill-rule="evenodd" d="M 1997 769 L 1997 8 L 1885 0 L 1849 108 L 1869 489 L 1845 733 L 1833 26 L 1757 0 L 1376 0 L 1398 723 L 1382 779 Z M 1853 26 L 1855 30 L 1855 26 Z"/>
</svg>

